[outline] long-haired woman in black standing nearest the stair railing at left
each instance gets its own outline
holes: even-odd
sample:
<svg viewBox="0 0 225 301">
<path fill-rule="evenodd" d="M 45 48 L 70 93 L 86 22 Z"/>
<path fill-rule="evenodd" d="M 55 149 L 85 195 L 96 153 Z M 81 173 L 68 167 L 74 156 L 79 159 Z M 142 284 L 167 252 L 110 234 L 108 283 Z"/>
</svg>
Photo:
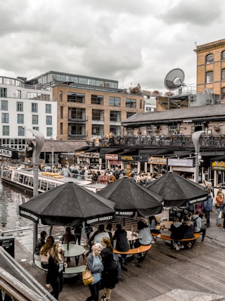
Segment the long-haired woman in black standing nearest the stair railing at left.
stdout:
<svg viewBox="0 0 225 301">
<path fill-rule="evenodd" d="M 51 255 L 49 257 L 49 269 L 46 276 L 46 288 L 52 287 L 51 295 L 58 300 L 58 295 L 63 289 L 63 271 L 68 264 L 63 256 L 62 245 L 60 241 L 53 243 Z"/>
</svg>

